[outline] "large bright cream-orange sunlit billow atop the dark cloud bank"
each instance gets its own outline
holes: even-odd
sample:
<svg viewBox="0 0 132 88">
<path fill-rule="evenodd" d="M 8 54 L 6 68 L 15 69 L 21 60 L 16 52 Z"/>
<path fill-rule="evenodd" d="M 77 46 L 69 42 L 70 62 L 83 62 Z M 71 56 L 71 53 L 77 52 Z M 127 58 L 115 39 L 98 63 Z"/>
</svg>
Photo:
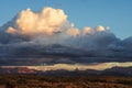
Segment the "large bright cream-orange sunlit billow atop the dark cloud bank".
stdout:
<svg viewBox="0 0 132 88">
<path fill-rule="evenodd" d="M 15 20 L 16 28 L 9 26 L 8 33 L 20 33 L 26 35 L 47 34 L 52 35 L 55 31 L 61 31 L 66 22 L 67 15 L 61 9 L 44 8 L 35 13 L 31 9 L 20 12 Z"/>
</svg>

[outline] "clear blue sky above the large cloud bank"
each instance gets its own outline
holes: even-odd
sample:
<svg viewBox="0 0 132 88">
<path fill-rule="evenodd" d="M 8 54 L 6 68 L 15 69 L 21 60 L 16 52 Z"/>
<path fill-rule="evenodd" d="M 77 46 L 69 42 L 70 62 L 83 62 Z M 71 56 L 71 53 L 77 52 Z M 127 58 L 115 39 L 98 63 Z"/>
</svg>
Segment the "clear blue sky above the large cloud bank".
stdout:
<svg viewBox="0 0 132 88">
<path fill-rule="evenodd" d="M 0 25 L 26 8 L 41 11 L 44 7 L 63 9 L 79 29 L 103 25 L 121 38 L 132 35 L 132 0 L 1 0 Z"/>
</svg>

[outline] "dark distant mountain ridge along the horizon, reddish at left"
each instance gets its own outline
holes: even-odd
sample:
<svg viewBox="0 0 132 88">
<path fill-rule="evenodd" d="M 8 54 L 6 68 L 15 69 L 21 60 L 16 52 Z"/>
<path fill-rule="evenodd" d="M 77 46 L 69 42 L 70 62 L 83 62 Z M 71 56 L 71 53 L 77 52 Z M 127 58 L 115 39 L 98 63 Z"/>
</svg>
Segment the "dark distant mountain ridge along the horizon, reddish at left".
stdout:
<svg viewBox="0 0 132 88">
<path fill-rule="evenodd" d="M 86 69 L 86 70 L 65 70 L 65 69 L 56 69 L 56 70 L 36 70 L 30 69 L 26 67 L 0 67 L 0 74 L 40 74 L 40 75 L 70 75 L 70 76 L 79 76 L 79 75 L 103 75 L 103 76 L 128 76 L 132 77 L 132 67 L 112 67 L 105 70 L 95 70 L 95 69 Z"/>
</svg>

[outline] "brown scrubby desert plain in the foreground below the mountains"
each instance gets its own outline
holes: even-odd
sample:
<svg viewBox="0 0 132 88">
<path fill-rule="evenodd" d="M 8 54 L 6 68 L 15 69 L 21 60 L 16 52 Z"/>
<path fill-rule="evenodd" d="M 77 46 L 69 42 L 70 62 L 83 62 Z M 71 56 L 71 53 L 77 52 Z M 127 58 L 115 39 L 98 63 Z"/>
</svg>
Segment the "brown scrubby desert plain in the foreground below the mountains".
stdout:
<svg viewBox="0 0 132 88">
<path fill-rule="evenodd" d="M 132 88 L 131 77 L 0 75 L 0 88 Z"/>
</svg>

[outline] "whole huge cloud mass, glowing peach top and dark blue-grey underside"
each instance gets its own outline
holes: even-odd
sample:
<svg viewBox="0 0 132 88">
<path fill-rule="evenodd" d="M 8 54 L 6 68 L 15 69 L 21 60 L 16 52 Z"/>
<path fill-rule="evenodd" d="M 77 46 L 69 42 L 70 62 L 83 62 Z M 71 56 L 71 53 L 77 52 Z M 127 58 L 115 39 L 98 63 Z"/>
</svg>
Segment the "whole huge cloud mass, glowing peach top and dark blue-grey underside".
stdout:
<svg viewBox="0 0 132 88">
<path fill-rule="evenodd" d="M 65 62 L 51 59 L 55 63 L 80 63 L 80 59 L 81 63 L 132 61 L 132 37 L 120 40 L 110 32 L 109 26 L 102 25 L 77 29 L 62 9 L 47 7 L 40 12 L 23 10 L 0 30 L 1 56 L 69 57 Z"/>
</svg>

